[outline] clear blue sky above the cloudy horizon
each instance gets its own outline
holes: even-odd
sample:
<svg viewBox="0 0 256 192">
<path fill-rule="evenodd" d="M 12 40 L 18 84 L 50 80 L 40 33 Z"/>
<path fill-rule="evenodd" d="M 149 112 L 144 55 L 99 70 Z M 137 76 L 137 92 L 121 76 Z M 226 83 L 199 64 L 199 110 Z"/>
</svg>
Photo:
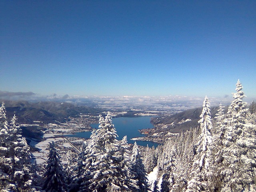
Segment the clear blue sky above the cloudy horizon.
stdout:
<svg viewBox="0 0 256 192">
<path fill-rule="evenodd" d="M 256 96 L 256 1 L 0 1 L 0 90 Z"/>
</svg>

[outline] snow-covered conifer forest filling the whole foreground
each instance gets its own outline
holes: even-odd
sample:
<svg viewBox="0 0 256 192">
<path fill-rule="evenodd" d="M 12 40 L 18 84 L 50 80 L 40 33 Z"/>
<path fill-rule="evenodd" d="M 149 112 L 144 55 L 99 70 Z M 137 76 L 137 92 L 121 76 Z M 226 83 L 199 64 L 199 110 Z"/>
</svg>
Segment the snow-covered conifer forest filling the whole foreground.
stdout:
<svg viewBox="0 0 256 192">
<path fill-rule="evenodd" d="M 157 148 L 140 150 L 136 142 L 118 141 L 110 113 L 100 116 L 99 129 L 83 143 L 80 154 L 67 153 L 63 164 L 56 144 L 44 174 L 31 164 L 30 150 L 22 138 L 17 118 L 7 122 L 0 108 L 1 192 L 255 192 L 256 104 L 243 101 L 238 80 L 234 100 L 224 112 L 220 104 L 212 118 L 204 99 L 199 126 L 168 138 Z M 149 183 L 154 168 L 157 177 Z M 41 170 L 42 171 L 42 170 Z"/>
</svg>

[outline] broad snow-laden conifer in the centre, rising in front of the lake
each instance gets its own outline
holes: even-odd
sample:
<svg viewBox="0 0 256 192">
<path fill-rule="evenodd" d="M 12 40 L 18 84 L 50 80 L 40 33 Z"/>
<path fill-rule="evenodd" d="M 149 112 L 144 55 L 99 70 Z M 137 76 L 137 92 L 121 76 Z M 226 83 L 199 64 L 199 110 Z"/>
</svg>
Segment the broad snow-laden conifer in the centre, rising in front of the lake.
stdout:
<svg viewBox="0 0 256 192">
<path fill-rule="evenodd" d="M 79 192 L 87 191 L 128 191 L 126 174 L 120 165 L 122 155 L 120 144 L 116 139 L 116 129 L 112 124 L 110 112 L 103 118 L 100 116 L 99 129 L 96 130 L 92 144 L 88 146 L 84 165 L 87 180 L 82 182 Z"/>
</svg>

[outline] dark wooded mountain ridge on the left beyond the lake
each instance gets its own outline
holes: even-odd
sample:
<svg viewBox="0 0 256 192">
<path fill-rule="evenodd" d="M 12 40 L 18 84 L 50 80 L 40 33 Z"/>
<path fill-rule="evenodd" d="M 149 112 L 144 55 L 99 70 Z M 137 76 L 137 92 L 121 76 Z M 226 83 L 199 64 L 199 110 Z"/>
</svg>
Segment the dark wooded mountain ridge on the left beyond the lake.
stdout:
<svg viewBox="0 0 256 192">
<path fill-rule="evenodd" d="M 60 102 L 27 102 L 4 100 L 8 118 L 14 114 L 18 116 L 19 123 L 65 122 L 69 117 L 82 114 L 98 114 L 101 110 L 88 106 L 77 106 L 71 103 Z"/>
</svg>

